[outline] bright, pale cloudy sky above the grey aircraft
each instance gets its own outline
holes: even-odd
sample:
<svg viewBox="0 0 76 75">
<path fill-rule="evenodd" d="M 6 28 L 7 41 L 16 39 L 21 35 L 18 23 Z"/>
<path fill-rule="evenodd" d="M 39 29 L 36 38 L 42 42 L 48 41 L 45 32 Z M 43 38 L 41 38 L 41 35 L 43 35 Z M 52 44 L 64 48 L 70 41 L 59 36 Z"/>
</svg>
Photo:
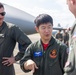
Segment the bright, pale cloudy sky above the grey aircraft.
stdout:
<svg viewBox="0 0 76 75">
<path fill-rule="evenodd" d="M 58 23 L 62 27 L 72 26 L 75 19 L 68 9 L 66 0 L 0 0 L 0 2 L 21 9 L 35 17 L 42 13 L 49 14 L 54 19 L 54 26 Z"/>
</svg>

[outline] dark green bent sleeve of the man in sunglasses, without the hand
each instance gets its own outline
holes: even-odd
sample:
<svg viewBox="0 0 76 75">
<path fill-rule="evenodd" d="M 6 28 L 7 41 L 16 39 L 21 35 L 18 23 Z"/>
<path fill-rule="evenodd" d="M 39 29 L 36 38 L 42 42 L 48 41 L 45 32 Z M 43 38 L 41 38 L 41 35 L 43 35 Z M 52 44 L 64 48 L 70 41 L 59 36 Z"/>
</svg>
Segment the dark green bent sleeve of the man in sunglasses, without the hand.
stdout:
<svg viewBox="0 0 76 75">
<path fill-rule="evenodd" d="M 13 26 L 11 32 L 12 32 L 11 34 L 12 39 L 17 41 L 21 45 L 19 52 L 15 56 L 15 60 L 18 61 L 23 57 L 26 48 L 28 47 L 29 44 L 31 44 L 31 40 L 17 26 Z"/>
</svg>

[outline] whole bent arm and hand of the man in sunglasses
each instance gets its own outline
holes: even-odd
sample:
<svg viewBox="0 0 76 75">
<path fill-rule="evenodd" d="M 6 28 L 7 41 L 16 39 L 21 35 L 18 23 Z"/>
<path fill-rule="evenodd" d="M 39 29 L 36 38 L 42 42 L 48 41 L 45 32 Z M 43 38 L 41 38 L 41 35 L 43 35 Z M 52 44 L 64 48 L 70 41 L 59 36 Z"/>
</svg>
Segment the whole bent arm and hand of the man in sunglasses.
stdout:
<svg viewBox="0 0 76 75">
<path fill-rule="evenodd" d="M 20 45 L 22 45 L 23 50 L 21 49 L 16 56 L 11 55 L 11 57 L 3 57 L 2 59 L 4 61 L 2 63 L 7 66 L 20 60 L 23 57 L 27 46 L 31 43 L 30 39 L 17 26 L 12 25 L 12 27 L 10 27 L 10 33 L 12 43 L 19 42 Z"/>
</svg>

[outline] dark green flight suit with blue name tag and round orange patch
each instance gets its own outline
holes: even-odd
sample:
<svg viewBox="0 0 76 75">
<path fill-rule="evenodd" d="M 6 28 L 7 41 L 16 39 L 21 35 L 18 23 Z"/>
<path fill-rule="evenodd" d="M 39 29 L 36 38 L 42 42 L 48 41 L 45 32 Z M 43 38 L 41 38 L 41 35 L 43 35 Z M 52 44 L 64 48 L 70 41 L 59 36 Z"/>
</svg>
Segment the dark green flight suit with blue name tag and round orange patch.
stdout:
<svg viewBox="0 0 76 75">
<path fill-rule="evenodd" d="M 42 42 L 39 40 L 26 49 L 20 61 L 21 69 L 29 72 L 24 69 L 24 63 L 32 59 L 38 66 L 33 75 L 63 75 L 67 55 L 66 45 L 59 43 L 55 38 L 51 38 L 46 50 L 43 49 Z"/>
</svg>

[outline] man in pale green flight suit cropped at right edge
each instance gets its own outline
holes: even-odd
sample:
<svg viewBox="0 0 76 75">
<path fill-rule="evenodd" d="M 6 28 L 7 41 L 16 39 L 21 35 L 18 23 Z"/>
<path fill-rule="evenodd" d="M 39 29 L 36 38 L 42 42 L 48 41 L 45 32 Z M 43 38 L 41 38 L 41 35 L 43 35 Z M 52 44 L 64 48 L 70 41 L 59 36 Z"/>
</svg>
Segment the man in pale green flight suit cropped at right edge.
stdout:
<svg viewBox="0 0 76 75">
<path fill-rule="evenodd" d="M 69 10 L 76 17 L 76 0 L 67 0 Z M 70 52 L 65 65 L 64 75 L 76 75 L 76 20 L 70 32 Z"/>
</svg>

